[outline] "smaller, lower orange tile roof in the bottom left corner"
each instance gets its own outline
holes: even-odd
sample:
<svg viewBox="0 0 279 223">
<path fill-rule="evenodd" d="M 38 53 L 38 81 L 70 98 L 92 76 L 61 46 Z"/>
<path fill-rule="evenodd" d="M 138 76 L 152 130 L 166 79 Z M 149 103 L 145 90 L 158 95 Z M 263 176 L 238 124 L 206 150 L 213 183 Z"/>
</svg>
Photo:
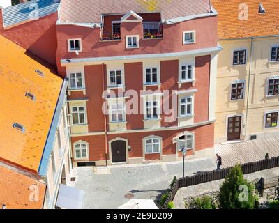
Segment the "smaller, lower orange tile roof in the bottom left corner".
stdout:
<svg viewBox="0 0 279 223">
<path fill-rule="evenodd" d="M 0 166 L 0 209 L 42 209 L 45 184 Z M 38 192 L 38 194 L 36 194 Z"/>
</svg>

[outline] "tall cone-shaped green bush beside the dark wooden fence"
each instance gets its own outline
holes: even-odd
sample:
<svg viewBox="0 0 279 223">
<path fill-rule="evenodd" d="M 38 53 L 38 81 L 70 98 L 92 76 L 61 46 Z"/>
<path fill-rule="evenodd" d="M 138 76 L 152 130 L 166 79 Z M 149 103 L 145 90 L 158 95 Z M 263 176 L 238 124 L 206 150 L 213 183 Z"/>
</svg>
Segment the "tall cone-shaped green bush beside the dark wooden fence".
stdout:
<svg viewBox="0 0 279 223">
<path fill-rule="evenodd" d="M 225 178 L 218 194 L 220 208 L 254 209 L 257 197 L 255 186 L 243 177 L 240 165 L 236 165 Z"/>
</svg>

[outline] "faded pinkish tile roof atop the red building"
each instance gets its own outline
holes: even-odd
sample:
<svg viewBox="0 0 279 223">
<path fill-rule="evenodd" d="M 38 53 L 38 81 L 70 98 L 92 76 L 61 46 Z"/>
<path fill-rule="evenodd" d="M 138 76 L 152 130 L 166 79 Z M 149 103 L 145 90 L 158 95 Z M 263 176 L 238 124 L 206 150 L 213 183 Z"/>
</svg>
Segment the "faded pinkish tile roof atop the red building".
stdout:
<svg viewBox="0 0 279 223">
<path fill-rule="evenodd" d="M 100 23 L 102 14 L 161 12 L 163 20 L 209 13 L 209 0 L 61 0 L 61 22 Z"/>
</svg>

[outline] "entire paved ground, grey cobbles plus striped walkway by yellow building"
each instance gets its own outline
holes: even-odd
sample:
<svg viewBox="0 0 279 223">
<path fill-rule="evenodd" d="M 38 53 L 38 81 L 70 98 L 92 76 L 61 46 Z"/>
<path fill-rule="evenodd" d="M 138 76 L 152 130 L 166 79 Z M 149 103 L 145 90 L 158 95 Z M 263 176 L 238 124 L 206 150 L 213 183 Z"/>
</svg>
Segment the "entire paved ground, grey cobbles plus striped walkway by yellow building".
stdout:
<svg viewBox="0 0 279 223">
<path fill-rule="evenodd" d="M 279 156 L 279 138 L 258 139 L 238 144 L 216 145 L 216 153 L 222 156 L 223 167 L 237 163 L 263 160 Z M 216 169 L 215 157 L 206 157 L 186 161 L 186 175 L 199 171 Z M 118 208 L 128 201 L 126 194 L 133 194 L 135 199 L 156 199 L 169 188 L 174 176 L 182 176 L 182 162 L 120 165 L 109 167 L 110 174 L 97 175 L 93 167 L 75 168 L 77 177 L 74 187 L 85 190 L 84 208 Z"/>
</svg>

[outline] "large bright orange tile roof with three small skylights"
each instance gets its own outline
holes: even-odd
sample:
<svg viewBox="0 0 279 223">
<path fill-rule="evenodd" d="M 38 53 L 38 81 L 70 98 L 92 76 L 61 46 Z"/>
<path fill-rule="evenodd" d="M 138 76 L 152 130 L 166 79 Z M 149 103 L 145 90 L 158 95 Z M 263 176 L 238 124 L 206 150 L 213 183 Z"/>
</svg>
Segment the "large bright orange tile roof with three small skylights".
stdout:
<svg viewBox="0 0 279 223">
<path fill-rule="evenodd" d="M 1 35 L 0 49 L 0 160 L 37 172 L 63 79 Z M 24 125 L 25 132 L 13 123 Z"/>
</svg>

